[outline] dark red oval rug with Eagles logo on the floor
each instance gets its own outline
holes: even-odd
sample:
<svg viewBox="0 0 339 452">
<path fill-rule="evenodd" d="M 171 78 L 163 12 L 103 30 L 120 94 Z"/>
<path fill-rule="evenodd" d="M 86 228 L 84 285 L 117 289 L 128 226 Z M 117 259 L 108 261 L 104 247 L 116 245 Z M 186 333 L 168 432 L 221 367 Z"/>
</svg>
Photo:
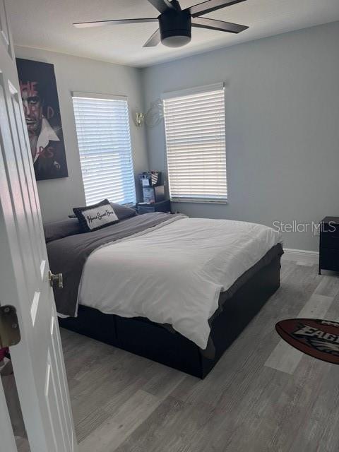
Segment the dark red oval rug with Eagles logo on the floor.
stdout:
<svg viewBox="0 0 339 452">
<path fill-rule="evenodd" d="M 275 325 L 292 347 L 311 357 L 339 364 L 339 323 L 320 319 L 287 319 Z"/>
</svg>

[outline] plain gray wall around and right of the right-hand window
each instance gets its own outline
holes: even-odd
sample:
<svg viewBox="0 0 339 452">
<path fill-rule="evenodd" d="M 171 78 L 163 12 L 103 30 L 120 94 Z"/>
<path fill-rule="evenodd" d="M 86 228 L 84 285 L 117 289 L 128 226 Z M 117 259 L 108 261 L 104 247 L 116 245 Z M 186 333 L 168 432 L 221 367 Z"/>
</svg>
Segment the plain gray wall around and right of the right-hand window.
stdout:
<svg viewBox="0 0 339 452">
<path fill-rule="evenodd" d="M 194 217 L 272 225 L 339 215 L 339 23 L 143 69 L 145 105 L 163 92 L 225 81 L 227 205 L 177 203 Z M 164 169 L 163 126 L 148 129 L 151 169 Z M 312 232 L 285 246 L 316 250 Z"/>
</svg>

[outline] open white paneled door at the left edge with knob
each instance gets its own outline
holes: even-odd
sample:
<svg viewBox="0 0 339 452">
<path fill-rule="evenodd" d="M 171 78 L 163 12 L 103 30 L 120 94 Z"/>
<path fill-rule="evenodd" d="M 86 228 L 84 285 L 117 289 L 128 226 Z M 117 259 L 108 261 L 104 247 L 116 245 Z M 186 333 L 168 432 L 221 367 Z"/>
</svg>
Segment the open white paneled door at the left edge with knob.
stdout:
<svg viewBox="0 0 339 452">
<path fill-rule="evenodd" d="M 37 186 L 4 0 L 0 0 L 0 305 L 18 314 L 10 348 L 32 452 L 77 451 Z M 1 332 L 0 332 L 1 333 Z M 1 385 L 1 381 L 0 381 Z M 11 452 L 0 387 L 0 450 Z M 6 434 L 7 432 L 7 434 Z M 3 436 L 5 435 L 5 436 Z"/>
</svg>

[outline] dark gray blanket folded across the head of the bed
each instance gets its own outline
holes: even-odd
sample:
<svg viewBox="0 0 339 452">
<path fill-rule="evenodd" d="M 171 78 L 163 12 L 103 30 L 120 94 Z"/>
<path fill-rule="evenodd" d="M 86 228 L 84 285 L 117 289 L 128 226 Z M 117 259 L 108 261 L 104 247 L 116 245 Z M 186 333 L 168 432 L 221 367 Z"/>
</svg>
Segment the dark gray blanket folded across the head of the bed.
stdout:
<svg viewBox="0 0 339 452">
<path fill-rule="evenodd" d="M 62 273 L 64 277 L 64 288 L 54 287 L 57 312 L 64 316 L 76 316 L 78 287 L 83 266 L 88 256 L 95 249 L 138 232 L 143 232 L 160 225 L 162 222 L 175 221 L 178 217 L 180 218 L 182 215 L 168 215 L 161 212 L 137 215 L 97 231 L 71 235 L 64 237 L 64 239 L 49 242 L 47 244 L 49 268 L 52 273 Z"/>
</svg>

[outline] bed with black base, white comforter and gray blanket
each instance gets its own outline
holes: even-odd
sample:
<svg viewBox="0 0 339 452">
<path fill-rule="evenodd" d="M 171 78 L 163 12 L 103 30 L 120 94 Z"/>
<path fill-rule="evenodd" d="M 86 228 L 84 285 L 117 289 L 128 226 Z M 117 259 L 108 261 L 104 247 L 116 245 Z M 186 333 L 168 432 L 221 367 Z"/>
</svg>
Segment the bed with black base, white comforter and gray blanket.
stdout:
<svg viewBox="0 0 339 452">
<path fill-rule="evenodd" d="M 280 286 L 283 249 L 263 225 L 149 213 L 47 253 L 60 326 L 203 379 Z"/>
</svg>

